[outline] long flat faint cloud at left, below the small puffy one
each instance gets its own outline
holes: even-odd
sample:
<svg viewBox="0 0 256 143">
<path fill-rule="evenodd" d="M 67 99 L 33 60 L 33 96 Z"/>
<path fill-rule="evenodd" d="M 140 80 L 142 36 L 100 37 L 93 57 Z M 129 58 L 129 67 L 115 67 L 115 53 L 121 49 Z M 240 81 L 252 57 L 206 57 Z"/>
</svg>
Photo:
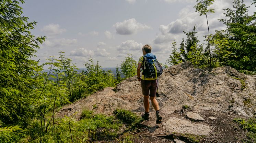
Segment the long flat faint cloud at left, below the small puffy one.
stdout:
<svg viewBox="0 0 256 143">
<path fill-rule="evenodd" d="M 44 46 L 47 47 L 58 47 L 58 46 L 68 46 L 77 43 L 77 39 L 46 39 L 43 43 Z"/>
</svg>

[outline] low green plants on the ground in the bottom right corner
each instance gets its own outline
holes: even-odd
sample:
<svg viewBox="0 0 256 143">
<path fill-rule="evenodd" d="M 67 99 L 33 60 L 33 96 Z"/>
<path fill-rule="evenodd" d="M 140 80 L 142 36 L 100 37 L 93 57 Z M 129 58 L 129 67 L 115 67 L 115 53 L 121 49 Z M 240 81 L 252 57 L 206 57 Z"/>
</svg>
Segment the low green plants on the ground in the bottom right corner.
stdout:
<svg viewBox="0 0 256 143">
<path fill-rule="evenodd" d="M 251 117 L 247 121 L 245 119 L 236 118 L 233 120 L 235 123 L 240 124 L 240 128 L 248 131 L 247 137 L 253 142 L 256 142 L 256 118 Z"/>
</svg>

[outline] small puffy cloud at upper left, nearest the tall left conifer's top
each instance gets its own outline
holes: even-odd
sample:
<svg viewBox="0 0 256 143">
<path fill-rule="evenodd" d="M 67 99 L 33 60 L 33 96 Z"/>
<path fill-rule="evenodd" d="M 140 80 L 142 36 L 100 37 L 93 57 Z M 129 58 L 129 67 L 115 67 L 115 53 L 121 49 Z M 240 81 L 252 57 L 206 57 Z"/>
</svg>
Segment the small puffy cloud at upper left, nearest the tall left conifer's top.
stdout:
<svg viewBox="0 0 256 143">
<path fill-rule="evenodd" d="M 66 29 L 61 29 L 58 24 L 49 24 L 43 27 L 41 31 L 45 32 L 48 35 L 59 35 L 66 31 Z"/>
</svg>

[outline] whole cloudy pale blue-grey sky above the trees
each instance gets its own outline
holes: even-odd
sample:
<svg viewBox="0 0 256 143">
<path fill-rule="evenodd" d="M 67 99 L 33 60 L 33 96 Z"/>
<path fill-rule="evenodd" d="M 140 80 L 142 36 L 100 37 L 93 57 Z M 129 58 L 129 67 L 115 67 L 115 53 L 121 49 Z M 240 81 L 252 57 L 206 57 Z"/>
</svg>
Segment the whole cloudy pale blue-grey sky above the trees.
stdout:
<svg viewBox="0 0 256 143">
<path fill-rule="evenodd" d="M 25 0 L 21 6 L 30 22 L 38 22 L 32 33 L 47 37 L 35 60 L 44 63 L 63 51 L 84 68 L 90 56 L 102 67 L 120 66 L 127 54 L 138 60 L 145 44 L 164 63 L 172 41 L 178 45 L 186 38 L 183 30 L 197 25 L 200 41 L 208 33 L 206 18 L 195 12 L 195 4 L 196 0 Z M 216 0 L 212 8 L 211 33 L 225 28 L 218 19 L 224 18 L 222 9 L 232 8 L 232 0 Z"/>
</svg>

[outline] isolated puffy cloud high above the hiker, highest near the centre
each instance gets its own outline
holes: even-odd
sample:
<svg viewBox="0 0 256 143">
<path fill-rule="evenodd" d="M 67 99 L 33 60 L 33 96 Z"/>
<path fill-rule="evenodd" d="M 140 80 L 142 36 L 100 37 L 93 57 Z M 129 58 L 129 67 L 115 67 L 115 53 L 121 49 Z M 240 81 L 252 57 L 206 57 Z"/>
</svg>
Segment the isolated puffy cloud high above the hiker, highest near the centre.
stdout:
<svg viewBox="0 0 256 143">
<path fill-rule="evenodd" d="M 120 35 L 130 35 L 137 33 L 139 30 L 151 29 L 148 25 L 138 23 L 135 18 L 117 22 L 114 27 L 116 28 L 116 33 Z"/>
</svg>

